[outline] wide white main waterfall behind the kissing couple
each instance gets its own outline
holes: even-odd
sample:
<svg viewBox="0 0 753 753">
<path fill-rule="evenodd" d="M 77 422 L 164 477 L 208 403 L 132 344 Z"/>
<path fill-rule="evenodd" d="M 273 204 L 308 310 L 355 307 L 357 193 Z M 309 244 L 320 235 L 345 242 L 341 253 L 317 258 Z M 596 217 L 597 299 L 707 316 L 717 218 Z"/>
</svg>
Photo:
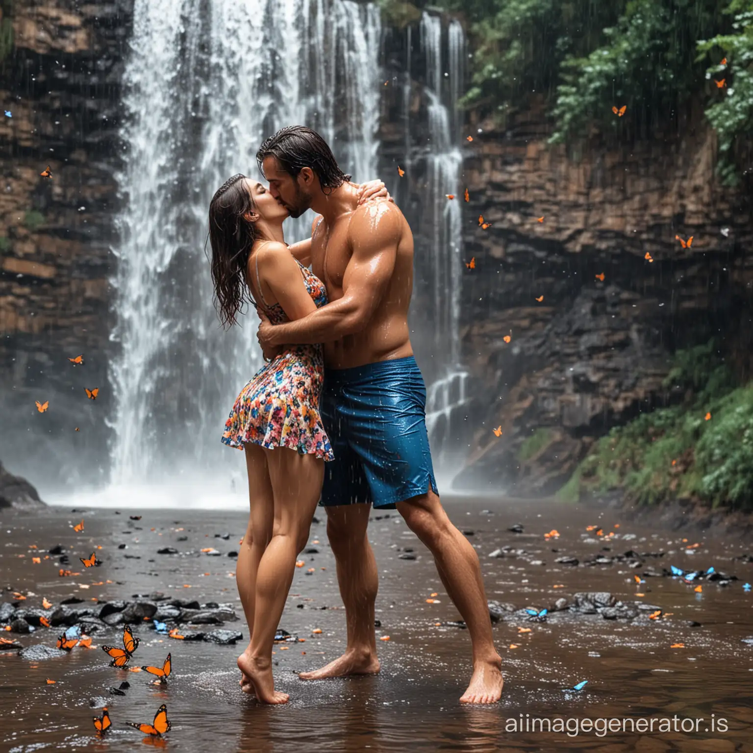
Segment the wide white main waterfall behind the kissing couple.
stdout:
<svg viewBox="0 0 753 753">
<path fill-rule="evenodd" d="M 220 437 L 261 353 L 253 309 L 223 331 L 212 308 L 209 200 L 233 173 L 257 175 L 258 146 L 295 123 L 322 133 L 355 180 L 376 177 L 380 14 L 350 0 L 136 0 L 134 19 L 111 280 L 111 489 L 166 483 L 196 498 L 212 480 L 219 496 L 245 475 Z M 309 233 L 310 219 L 286 221 L 286 239 Z"/>
</svg>

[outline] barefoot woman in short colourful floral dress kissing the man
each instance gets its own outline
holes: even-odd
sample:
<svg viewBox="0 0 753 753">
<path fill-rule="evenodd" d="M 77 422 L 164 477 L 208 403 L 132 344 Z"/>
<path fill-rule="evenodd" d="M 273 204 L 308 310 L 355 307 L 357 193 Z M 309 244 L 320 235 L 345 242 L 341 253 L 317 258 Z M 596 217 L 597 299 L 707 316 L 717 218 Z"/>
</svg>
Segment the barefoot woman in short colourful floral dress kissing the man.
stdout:
<svg viewBox="0 0 753 753">
<path fill-rule="evenodd" d="M 381 181 L 361 187 L 361 201 L 386 195 Z M 212 282 L 223 325 L 237 324 L 246 301 L 275 324 L 327 303 L 325 285 L 304 266 L 311 239 L 285 245 L 286 217 L 288 210 L 264 184 L 245 175 L 233 175 L 212 197 Z M 274 689 L 271 652 L 259 647 L 271 644 L 269 633 L 279 624 L 297 553 L 309 538 L 324 464 L 334 458 L 319 416 L 323 378 L 321 345 L 286 347 L 243 387 L 221 437 L 245 450 L 251 514 L 236 581 L 251 636 L 238 663 L 243 690 L 265 703 L 288 700 Z M 258 598 L 273 608 L 257 613 Z"/>
</svg>

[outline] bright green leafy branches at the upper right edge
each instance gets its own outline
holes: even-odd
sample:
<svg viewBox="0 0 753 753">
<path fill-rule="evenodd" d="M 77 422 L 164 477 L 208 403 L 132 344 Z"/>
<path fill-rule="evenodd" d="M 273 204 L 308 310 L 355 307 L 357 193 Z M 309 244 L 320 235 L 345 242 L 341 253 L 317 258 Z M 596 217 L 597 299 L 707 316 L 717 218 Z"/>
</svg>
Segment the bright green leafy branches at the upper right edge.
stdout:
<svg viewBox="0 0 753 753">
<path fill-rule="evenodd" d="M 733 33 L 698 43 L 699 59 L 712 56 L 706 78 L 725 78 L 727 87 L 713 87 L 713 104 L 706 117 L 719 139 L 718 173 L 727 185 L 739 183 L 736 152 L 753 138 L 753 0 L 733 0 L 725 11 L 733 14 Z M 727 67 L 719 64 L 727 58 Z M 720 99 L 721 97 L 721 99 Z"/>
</svg>

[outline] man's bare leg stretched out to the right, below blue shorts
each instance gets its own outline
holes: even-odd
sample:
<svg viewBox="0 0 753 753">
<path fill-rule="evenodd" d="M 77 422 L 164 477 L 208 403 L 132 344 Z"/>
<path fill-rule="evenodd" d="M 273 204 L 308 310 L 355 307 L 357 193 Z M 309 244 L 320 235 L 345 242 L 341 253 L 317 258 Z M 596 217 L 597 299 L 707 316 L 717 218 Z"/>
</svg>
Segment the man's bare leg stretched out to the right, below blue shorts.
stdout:
<svg viewBox="0 0 753 753">
<path fill-rule="evenodd" d="M 398 502 L 397 506 L 408 527 L 431 550 L 447 595 L 468 626 L 473 675 L 460 703 L 495 703 L 502 693 L 502 660 L 492 641 L 492 622 L 476 550 L 450 522 L 431 489 Z"/>
</svg>

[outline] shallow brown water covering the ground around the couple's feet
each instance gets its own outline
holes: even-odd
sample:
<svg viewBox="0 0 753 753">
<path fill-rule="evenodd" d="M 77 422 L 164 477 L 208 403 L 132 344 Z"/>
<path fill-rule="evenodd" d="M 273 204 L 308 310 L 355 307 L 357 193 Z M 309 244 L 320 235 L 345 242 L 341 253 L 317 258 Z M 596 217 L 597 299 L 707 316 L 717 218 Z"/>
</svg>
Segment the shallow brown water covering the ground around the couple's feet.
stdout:
<svg viewBox="0 0 753 753">
<path fill-rule="evenodd" d="M 257 705 L 238 686 L 235 661 L 248 633 L 237 601 L 235 560 L 227 553 L 238 549 L 244 514 L 3 511 L 0 584 L 26 595 L 23 606 L 40 606 L 43 597 L 57 605 L 79 596 L 85 602 L 75 606 L 85 607 L 96 599 L 131 599 L 137 593 L 160 590 L 166 596 L 200 602 L 236 602 L 239 620 L 221 627 L 241 630 L 244 638 L 234 646 L 187 642 L 157 636 L 151 623 L 140 624 L 136 634 L 142 642 L 134 665 L 161 666 L 167 652 L 172 652 L 172 675 L 162 687 L 149 684 L 144 672 L 107 665 L 108 657 L 99 646 L 117 645 L 122 634 L 118 627 L 96 634 L 92 649 L 75 648 L 54 659 L 29 662 L 15 651 L 0 651 L 0 751 L 115 751 L 142 743 L 212 753 L 753 751 L 753 642 L 745 642 L 753 638 L 753 593 L 743 588 L 753 581 L 753 564 L 735 559 L 753 552 L 753 544 L 725 540 L 713 532 L 695 537 L 663 532 L 620 520 L 611 511 L 566 505 L 488 499 L 447 499 L 445 504 L 477 547 L 489 599 L 511 602 L 516 608 L 551 608 L 557 599 L 572 601 L 578 592 L 609 591 L 626 605 L 656 606 L 663 616 L 649 619 L 648 608 L 632 620 L 554 612 L 547 621 L 536 623 L 508 614 L 494 627 L 504 661 L 501 703 L 489 708 L 460 706 L 458 699 L 471 669 L 468 633 L 442 624 L 458 620 L 459 615 L 426 550 L 394 511 L 389 517 L 382 514 L 380 520 L 375 513 L 370 540 L 380 569 L 377 636 L 389 636 L 389 642 L 377 642 L 382 672 L 377 677 L 304 682 L 296 672 L 339 655 L 345 634 L 334 558 L 327 545 L 324 514 L 318 513 L 322 523 L 312 526 L 311 540 L 319 541 L 314 545 L 320 553 L 301 556 L 305 566 L 296 570 L 281 623 L 306 640 L 279 645 L 273 657 L 278 662 L 278 687 L 290 694 L 291 702 L 270 708 Z M 130 515 L 138 514 L 142 520 L 130 520 Z M 82 518 L 84 531 L 77 533 L 72 526 Z M 523 525 L 523 533 L 508 531 L 514 523 Z M 587 531 L 590 525 L 599 526 L 602 535 L 596 536 L 597 529 Z M 559 537 L 545 538 L 553 529 Z M 229 540 L 215 538 L 226 532 Z M 610 532 L 614 535 L 608 536 Z M 187 539 L 179 540 L 184 536 Z M 38 550 L 30 549 L 32 544 Z M 59 577 L 58 557 L 44 559 L 56 544 L 72 547 L 65 550 L 70 556 L 66 567 L 80 575 Z M 118 549 L 118 544 L 127 548 Z M 79 566 L 78 557 L 89 556 L 98 546 L 102 566 Z M 179 554 L 157 554 L 157 549 L 168 546 Z M 201 553 L 206 547 L 215 547 L 222 556 Z M 500 547 L 512 549 L 505 556 L 489 557 Z M 410 554 L 406 551 L 410 549 L 416 559 L 399 558 Z M 583 564 L 599 554 L 609 557 L 627 550 L 664 555 L 642 556 L 638 569 L 626 561 Z M 32 556 L 40 553 L 41 562 L 33 563 Z M 554 562 L 562 556 L 575 556 L 581 564 Z M 634 579 L 636 574 L 670 565 L 684 571 L 714 566 L 739 580 L 725 587 L 704 580 L 698 593 L 697 581 L 646 577 L 645 584 L 637 584 Z M 309 575 L 311 567 L 316 570 Z M 100 581 L 101 585 L 94 585 Z M 437 593 L 437 603 L 426 602 L 431 593 Z M 14 596 L 5 590 L 0 601 L 14 601 Z M 530 632 L 520 632 L 521 628 Z M 40 642 L 53 646 L 62 630 L 40 627 L 31 635 L 0 632 L 0 636 L 16 637 L 24 646 Z M 55 682 L 47 684 L 48 678 Z M 584 680 L 588 682 L 581 691 L 567 690 Z M 109 688 L 122 681 L 130 682 L 126 694 L 109 694 Z M 144 738 L 124 724 L 151 722 L 162 703 L 172 723 L 165 739 Z M 102 706 L 108 706 L 113 726 L 99 740 L 93 734 L 92 717 L 101 713 Z M 593 720 L 595 730 L 588 720 Z M 531 731 L 533 724 L 539 725 L 537 731 Z M 549 724 L 562 731 L 538 731 L 542 724 L 544 729 Z M 603 733 L 605 724 L 609 731 Z"/>
</svg>

